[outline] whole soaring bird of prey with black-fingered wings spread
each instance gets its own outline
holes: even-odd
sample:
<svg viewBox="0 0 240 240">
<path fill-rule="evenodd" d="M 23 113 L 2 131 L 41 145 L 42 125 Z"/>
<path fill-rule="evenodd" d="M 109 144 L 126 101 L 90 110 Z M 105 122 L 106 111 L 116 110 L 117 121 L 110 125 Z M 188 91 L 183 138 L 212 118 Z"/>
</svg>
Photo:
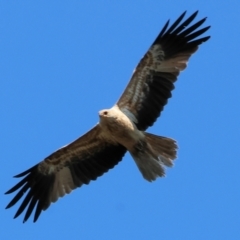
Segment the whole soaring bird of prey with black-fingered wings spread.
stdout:
<svg viewBox="0 0 240 240">
<path fill-rule="evenodd" d="M 184 12 L 171 26 L 167 21 L 117 103 L 99 111 L 95 127 L 15 176 L 23 179 L 6 192 L 18 190 L 6 208 L 23 197 L 14 218 L 26 210 L 25 222 L 35 209 L 33 221 L 37 221 L 52 202 L 96 180 L 117 165 L 127 151 L 147 181 L 164 176 L 165 167 L 171 167 L 176 158 L 177 144 L 145 130 L 160 116 L 190 56 L 210 38 L 200 37 L 210 28 L 199 29 L 206 18 L 191 24 L 197 13 L 183 20 Z"/>
</svg>

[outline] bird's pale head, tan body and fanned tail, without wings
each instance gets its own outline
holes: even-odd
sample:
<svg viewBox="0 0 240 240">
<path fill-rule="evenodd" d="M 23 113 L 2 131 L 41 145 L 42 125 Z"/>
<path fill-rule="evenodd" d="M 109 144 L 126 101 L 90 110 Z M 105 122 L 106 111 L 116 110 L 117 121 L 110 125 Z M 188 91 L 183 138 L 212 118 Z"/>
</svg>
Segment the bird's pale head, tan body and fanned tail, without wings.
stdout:
<svg viewBox="0 0 240 240">
<path fill-rule="evenodd" d="M 138 130 L 135 123 L 118 106 L 99 112 L 99 127 L 104 138 L 124 146 L 132 155 L 143 177 L 153 181 L 164 175 L 164 165 L 172 166 L 177 145 L 173 139 Z M 165 143 L 167 149 L 163 147 Z M 170 148 L 170 149 L 169 149 Z M 147 163 L 147 164 L 146 164 Z"/>
</svg>

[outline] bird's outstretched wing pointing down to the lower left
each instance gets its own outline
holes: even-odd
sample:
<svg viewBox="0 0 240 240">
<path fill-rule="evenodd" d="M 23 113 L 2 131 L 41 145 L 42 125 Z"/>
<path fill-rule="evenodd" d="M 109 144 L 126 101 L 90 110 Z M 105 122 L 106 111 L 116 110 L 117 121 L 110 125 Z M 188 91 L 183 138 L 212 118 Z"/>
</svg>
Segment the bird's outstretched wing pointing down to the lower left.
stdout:
<svg viewBox="0 0 240 240">
<path fill-rule="evenodd" d="M 17 178 L 24 178 L 6 192 L 9 194 L 18 190 L 6 208 L 12 207 L 26 194 L 14 218 L 26 209 L 23 220 L 25 222 L 36 207 L 35 222 L 51 202 L 56 202 L 59 197 L 82 184 L 96 180 L 121 161 L 125 152 L 126 149 L 122 145 L 108 142 L 97 125 L 44 161 L 16 175 Z"/>
</svg>

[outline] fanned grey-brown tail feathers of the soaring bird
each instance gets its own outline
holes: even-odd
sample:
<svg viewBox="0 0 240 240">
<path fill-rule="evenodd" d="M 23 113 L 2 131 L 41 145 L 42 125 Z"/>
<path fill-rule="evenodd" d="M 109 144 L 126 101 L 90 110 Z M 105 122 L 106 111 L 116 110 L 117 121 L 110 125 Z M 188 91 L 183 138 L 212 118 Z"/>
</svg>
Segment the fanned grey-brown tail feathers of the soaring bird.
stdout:
<svg viewBox="0 0 240 240">
<path fill-rule="evenodd" d="M 165 176 L 165 166 L 173 166 L 176 158 L 177 144 L 171 138 L 145 134 L 145 141 L 136 144 L 130 151 L 143 177 L 154 181 L 157 177 Z M 139 147 L 140 146 L 140 147 Z"/>
</svg>

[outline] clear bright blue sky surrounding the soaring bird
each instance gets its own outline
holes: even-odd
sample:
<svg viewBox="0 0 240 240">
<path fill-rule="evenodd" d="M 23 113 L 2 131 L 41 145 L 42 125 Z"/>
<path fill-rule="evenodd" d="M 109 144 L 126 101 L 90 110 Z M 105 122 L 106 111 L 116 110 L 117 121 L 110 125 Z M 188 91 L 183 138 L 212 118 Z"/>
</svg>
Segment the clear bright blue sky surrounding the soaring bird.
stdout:
<svg viewBox="0 0 240 240">
<path fill-rule="evenodd" d="M 0 239 L 240 239 L 239 9 L 238 0 L 1 1 Z M 18 205 L 5 210 L 13 195 L 3 195 L 12 176 L 95 125 L 184 10 L 207 16 L 212 37 L 149 129 L 178 141 L 167 177 L 148 183 L 127 154 L 37 223 L 13 220 Z"/>
</svg>

